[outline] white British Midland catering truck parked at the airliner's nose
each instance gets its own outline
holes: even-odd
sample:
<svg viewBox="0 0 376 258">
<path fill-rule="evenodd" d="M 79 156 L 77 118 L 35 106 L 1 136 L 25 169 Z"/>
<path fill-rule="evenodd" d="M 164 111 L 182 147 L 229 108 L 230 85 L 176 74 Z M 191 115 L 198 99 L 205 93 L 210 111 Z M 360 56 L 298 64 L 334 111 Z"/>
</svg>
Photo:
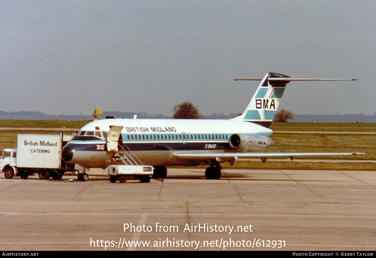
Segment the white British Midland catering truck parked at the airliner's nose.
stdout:
<svg viewBox="0 0 376 258">
<path fill-rule="evenodd" d="M 5 178 L 19 176 L 23 179 L 38 174 L 40 179 L 62 178 L 66 171 L 75 171 L 61 159 L 61 149 L 73 136 L 46 134 L 18 134 L 17 149 L 6 148 L 0 159 L 0 171 Z M 86 175 L 86 176 L 85 176 Z M 78 174 L 80 181 L 88 175 Z"/>
</svg>

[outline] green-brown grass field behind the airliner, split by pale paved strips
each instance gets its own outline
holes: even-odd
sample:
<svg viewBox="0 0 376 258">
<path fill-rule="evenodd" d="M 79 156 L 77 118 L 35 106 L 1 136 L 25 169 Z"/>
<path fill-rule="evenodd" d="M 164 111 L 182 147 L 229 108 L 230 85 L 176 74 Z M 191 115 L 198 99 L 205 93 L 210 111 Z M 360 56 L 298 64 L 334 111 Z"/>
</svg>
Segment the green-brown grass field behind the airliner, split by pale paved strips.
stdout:
<svg viewBox="0 0 376 258">
<path fill-rule="evenodd" d="M 65 120 L 0 120 L 0 127 L 44 127 L 80 128 L 89 121 Z M 301 157 L 301 159 L 363 159 L 376 160 L 376 133 L 282 133 L 278 131 L 332 131 L 332 132 L 376 132 L 372 123 L 272 123 L 276 132 L 271 138 L 276 144 L 268 152 L 365 152 L 355 156 Z M 74 131 L 65 132 L 72 134 Z M 58 134 L 50 130 L 1 130 L 0 150 L 17 147 L 18 133 Z M 317 162 L 266 162 L 237 161 L 234 166 L 223 163 L 223 168 L 254 169 L 312 169 L 312 170 L 376 170 L 374 163 L 317 163 Z"/>
</svg>

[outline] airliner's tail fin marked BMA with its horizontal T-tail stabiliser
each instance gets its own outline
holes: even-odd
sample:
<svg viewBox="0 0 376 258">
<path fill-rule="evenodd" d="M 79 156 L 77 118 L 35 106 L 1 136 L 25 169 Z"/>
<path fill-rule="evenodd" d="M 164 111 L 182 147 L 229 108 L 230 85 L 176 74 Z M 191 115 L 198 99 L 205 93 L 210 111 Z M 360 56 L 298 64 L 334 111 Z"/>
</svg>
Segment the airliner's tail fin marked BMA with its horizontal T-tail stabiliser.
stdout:
<svg viewBox="0 0 376 258">
<path fill-rule="evenodd" d="M 234 120 L 249 121 L 269 127 L 277 112 L 286 84 L 290 81 L 354 81 L 356 79 L 309 79 L 291 78 L 270 72 L 262 79 L 234 79 L 235 81 L 261 81 L 246 110 Z"/>
</svg>

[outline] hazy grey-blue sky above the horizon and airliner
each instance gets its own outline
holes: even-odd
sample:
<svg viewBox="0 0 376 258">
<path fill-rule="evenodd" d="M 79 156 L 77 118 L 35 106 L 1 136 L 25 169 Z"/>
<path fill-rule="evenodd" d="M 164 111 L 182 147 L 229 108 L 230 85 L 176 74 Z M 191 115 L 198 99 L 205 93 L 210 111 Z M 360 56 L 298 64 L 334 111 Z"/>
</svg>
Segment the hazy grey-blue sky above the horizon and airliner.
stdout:
<svg viewBox="0 0 376 258">
<path fill-rule="evenodd" d="M 267 72 L 295 114 L 376 112 L 375 1 L 0 2 L 0 110 L 241 113 Z"/>
</svg>

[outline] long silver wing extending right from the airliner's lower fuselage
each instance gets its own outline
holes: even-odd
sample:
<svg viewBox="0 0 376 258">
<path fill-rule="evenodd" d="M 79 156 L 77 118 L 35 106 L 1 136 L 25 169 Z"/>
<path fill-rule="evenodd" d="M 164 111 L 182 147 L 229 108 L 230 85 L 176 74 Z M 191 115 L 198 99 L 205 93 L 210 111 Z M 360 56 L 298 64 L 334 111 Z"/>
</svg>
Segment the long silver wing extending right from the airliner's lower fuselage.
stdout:
<svg viewBox="0 0 376 258">
<path fill-rule="evenodd" d="M 176 153 L 175 156 L 178 159 L 215 159 L 218 162 L 222 160 L 234 160 L 234 159 L 250 159 L 250 158 L 261 158 L 265 159 L 268 157 L 293 157 L 296 156 L 329 156 L 329 155 L 357 155 L 357 154 L 365 154 L 365 153 L 347 153 L 347 152 L 238 152 L 238 153 Z"/>
</svg>

